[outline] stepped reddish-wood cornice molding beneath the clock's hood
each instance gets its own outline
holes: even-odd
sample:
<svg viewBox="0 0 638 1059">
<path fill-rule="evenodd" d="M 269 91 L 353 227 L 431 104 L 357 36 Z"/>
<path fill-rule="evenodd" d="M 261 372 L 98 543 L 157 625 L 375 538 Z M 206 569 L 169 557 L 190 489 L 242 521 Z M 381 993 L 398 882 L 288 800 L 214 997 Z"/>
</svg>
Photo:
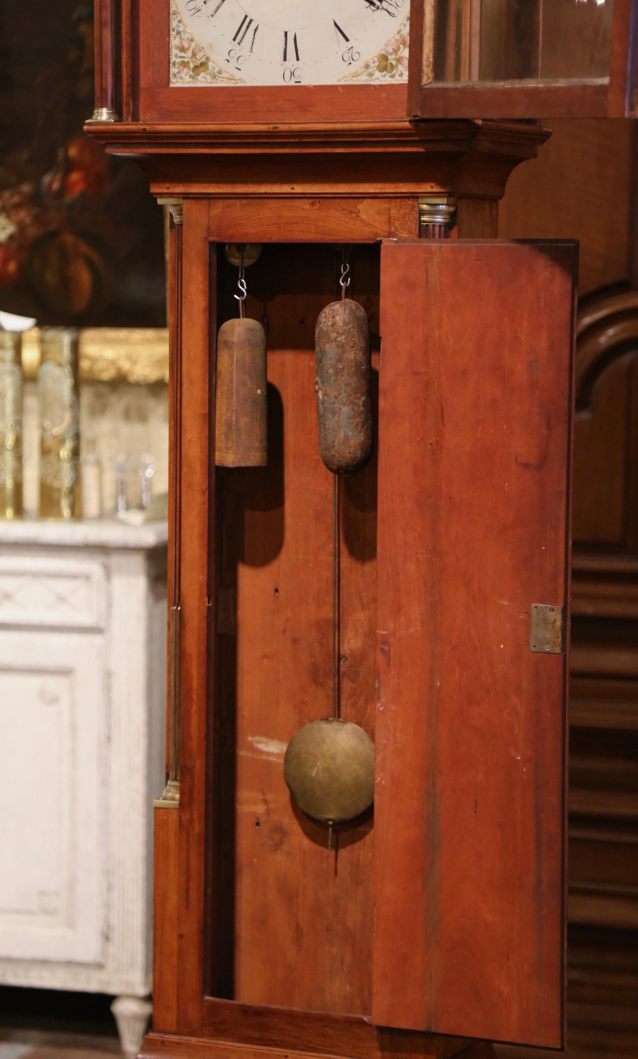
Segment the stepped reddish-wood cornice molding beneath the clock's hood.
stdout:
<svg viewBox="0 0 638 1059">
<path fill-rule="evenodd" d="M 86 130 L 107 150 L 135 158 L 156 195 L 322 200 L 438 191 L 496 200 L 549 136 L 539 125 L 485 121 L 130 122 Z"/>
</svg>

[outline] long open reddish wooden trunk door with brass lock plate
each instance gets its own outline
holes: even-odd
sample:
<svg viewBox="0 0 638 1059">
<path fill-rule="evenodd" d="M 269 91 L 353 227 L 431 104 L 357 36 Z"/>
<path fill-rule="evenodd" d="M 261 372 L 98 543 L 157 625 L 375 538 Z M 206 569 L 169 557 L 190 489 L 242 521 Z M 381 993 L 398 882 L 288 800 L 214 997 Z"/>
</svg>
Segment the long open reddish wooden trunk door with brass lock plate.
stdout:
<svg viewBox="0 0 638 1059">
<path fill-rule="evenodd" d="M 578 248 L 382 248 L 372 1020 L 564 1038 Z"/>
</svg>

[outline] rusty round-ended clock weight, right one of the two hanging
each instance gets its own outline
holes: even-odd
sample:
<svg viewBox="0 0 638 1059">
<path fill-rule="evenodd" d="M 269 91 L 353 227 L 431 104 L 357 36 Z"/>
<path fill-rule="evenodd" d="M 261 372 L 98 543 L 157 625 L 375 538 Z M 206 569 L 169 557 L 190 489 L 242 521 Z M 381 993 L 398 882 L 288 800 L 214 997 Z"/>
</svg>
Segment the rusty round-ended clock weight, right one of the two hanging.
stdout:
<svg viewBox="0 0 638 1059">
<path fill-rule="evenodd" d="M 344 299 L 322 309 L 315 357 L 322 460 L 333 474 L 353 474 L 372 452 L 370 335 L 359 302 Z"/>
</svg>

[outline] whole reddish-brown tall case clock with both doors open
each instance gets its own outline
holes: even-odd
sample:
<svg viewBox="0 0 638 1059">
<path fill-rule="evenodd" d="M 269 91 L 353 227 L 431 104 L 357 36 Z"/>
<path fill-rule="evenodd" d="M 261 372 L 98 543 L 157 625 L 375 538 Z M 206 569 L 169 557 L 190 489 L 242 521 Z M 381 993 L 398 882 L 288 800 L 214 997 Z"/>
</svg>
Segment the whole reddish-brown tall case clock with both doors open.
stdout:
<svg viewBox="0 0 638 1059">
<path fill-rule="evenodd" d="M 578 248 L 496 219 L 632 6 L 96 2 L 170 212 L 148 1059 L 563 1044 Z"/>
</svg>

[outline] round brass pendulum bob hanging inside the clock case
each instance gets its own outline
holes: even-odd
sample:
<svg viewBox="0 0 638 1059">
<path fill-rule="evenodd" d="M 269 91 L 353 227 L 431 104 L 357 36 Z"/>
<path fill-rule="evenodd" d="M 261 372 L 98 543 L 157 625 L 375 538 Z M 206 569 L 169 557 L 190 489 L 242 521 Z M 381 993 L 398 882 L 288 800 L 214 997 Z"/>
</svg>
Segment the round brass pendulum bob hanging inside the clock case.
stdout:
<svg viewBox="0 0 638 1059">
<path fill-rule="evenodd" d="M 326 824 L 352 820 L 375 798 L 375 743 L 352 721 L 311 721 L 288 743 L 284 778 L 308 816 Z"/>
</svg>

